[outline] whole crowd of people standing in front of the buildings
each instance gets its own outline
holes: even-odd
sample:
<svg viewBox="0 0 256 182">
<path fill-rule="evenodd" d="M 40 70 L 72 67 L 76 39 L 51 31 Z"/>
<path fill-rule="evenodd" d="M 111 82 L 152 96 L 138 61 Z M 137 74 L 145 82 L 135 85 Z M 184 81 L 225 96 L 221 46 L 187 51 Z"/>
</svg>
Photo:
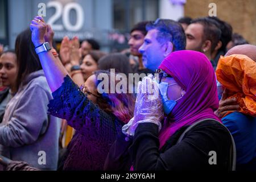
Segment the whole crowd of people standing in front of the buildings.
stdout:
<svg viewBox="0 0 256 182">
<path fill-rule="evenodd" d="M 54 44 L 36 16 L 0 53 L 1 170 L 256 170 L 256 46 L 229 23 L 139 22 L 128 52 Z"/>
</svg>

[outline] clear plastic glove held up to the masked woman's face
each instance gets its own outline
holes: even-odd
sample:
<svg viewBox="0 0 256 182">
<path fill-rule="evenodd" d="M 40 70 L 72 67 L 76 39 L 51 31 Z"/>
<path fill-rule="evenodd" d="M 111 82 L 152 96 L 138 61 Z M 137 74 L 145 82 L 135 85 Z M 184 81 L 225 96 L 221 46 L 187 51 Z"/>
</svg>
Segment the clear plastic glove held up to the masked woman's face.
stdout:
<svg viewBox="0 0 256 182">
<path fill-rule="evenodd" d="M 134 136 L 139 123 L 155 123 L 161 129 L 161 122 L 164 117 L 163 102 L 160 97 L 158 84 L 154 76 L 144 77 L 138 83 L 137 99 L 134 108 L 134 117 L 122 127 L 124 134 Z"/>
</svg>

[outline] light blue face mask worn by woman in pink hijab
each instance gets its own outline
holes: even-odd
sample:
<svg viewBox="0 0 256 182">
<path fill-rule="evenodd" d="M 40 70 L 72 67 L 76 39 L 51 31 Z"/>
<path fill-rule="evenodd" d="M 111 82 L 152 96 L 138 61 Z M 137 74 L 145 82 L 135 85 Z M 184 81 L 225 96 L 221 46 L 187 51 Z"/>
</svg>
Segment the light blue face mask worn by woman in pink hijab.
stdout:
<svg viewBox="0 0 256 182">
<path fill-rule="evenodd" d="M 163 109 L 164 109 L 164 114 L 170 114 L 171 111 L 174 109 L 175 105 L 177 104 L 177 101 L 180 100 L 182 97 L 178 98 L 177 100 L 169 100 L 167 97 L 167 90 L 168 90 L 168 86 L 172 86 L 172 85 L 176 85 L 175 84 L 168 84 L 168 82 L 160 82 L 160 84 L 158 84 L 158 88 L 160 90 L 160 93 L 162 95 L 162 100 L 163 100 Z"/>
</svg>

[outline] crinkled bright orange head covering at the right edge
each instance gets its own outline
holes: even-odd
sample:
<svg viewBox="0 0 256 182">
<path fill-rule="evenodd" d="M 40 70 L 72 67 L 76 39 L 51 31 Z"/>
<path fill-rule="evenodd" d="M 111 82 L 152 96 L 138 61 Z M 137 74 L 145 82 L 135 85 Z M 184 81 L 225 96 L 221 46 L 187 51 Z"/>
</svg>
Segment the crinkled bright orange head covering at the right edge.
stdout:
<svg viewBox="0 0 256 182">
<path fill-rule="evenodd" d="M 230 91 L 228 98 L 237 98 L 239 111 L 256 117 L 256 63 L 245 55 L 222 56 L 216 76 Z"/>
</svg>

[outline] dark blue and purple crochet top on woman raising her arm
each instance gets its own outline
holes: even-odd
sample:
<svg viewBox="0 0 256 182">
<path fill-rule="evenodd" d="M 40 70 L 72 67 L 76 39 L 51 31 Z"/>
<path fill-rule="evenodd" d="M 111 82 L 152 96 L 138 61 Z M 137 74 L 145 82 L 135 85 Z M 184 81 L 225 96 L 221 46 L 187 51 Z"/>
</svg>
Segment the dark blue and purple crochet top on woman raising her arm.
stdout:
<svg viewBox="0 0 256 182">
<path fill-rule="evenodd" d="M 77 132 L 69 143 L 64 170 L 102 170 L 123 123 L 88 100 L 69 76 L 52 96 L 48 112 L 66 119 Z"/>
</svg>

